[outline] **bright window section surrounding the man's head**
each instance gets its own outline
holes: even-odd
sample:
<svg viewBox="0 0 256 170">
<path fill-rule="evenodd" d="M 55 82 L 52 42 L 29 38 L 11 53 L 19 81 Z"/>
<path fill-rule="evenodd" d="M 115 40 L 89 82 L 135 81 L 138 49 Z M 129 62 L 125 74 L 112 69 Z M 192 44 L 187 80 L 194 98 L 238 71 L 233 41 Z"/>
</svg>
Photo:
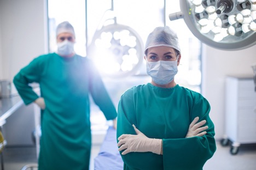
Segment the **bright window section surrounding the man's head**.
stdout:
<svg viewBox="0 0 256 170">
<path fill-rule="evenodd" d="M 75 31 L 74 50 L 81 56 L 86 55 L 85 39 L 85 0 L 49 0 L 48 22 L 49 22 L 49 51 L 55 52 L 56 27 L 59 23 L 68 21 Z"/>
</svg>

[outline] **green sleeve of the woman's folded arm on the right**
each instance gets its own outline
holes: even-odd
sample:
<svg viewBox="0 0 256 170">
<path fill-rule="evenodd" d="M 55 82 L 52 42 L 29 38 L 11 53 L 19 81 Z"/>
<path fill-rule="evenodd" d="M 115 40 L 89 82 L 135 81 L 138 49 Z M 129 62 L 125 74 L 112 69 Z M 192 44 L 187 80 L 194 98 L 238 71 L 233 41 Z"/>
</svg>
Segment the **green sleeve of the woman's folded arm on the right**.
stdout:
<svg viewBox="0 0 256 170">
<path fill-rule="evenodd" d="M 202 169 L 205 162 L 216 151 L 214 125 L 209 117 L 210 104 L 199 94 L 195 94 L 193 99 L 190 123 L 197 116 L 200 118 L 199 122 L 206 120 L 207 133 L 202 137 L 163 139 L 162 149 L 165 169 Z"/>
</svg>

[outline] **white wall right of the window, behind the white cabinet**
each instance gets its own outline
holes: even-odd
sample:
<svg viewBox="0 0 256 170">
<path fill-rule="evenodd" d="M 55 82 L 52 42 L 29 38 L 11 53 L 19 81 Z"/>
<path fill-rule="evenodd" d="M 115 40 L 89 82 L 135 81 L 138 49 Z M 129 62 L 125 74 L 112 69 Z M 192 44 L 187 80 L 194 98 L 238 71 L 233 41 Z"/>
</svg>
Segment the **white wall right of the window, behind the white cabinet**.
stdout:
<svg viewBox="0 0 256 170">
<path fill-rule="evenodd" d="M 211 118 L 216 139 L 224 135 L 225 76 L 253 76 L 251 65 L 256 62 L 256 45 L 245 50 L 223 51 L 203 45 L 202 93 L 211 104 Z"/>
</svg>

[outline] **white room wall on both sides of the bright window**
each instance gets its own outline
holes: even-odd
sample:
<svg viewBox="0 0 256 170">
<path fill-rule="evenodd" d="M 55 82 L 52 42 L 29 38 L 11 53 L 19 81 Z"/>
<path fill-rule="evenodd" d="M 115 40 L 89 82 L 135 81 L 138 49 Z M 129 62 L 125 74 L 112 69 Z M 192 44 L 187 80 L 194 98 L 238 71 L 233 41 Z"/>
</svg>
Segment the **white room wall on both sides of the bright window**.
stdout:
<svg viewBox="0 0 256 170">
<path fill-rule="evenodd" d="M 34 57 L 45 53 L 47 43 L 44 0 L 0 0 L 0 79 L 13 76 Z M 203 45 L 202 94 L 211 104 L 216 139 L 224 133 L 225 76 L 252 74 L 256 46 L 239 51 Z"/>
</svg>

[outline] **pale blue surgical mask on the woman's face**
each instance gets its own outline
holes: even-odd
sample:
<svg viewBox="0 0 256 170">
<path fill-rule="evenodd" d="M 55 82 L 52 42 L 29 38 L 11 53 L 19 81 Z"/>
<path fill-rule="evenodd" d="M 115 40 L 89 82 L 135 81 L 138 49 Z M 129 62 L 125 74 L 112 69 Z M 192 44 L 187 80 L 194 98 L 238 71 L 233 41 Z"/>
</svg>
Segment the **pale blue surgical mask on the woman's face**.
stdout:
<svg viewBox="0 0 256 170">
<path fill-rule="evenodd" d="M 158 62 L 148 62 L 147 60 L 147 74 L 156 84 L 168 84 L 178 72 L 177 62 L 178 59 L 175 61 L 159 60 Z"/>
</svg>

